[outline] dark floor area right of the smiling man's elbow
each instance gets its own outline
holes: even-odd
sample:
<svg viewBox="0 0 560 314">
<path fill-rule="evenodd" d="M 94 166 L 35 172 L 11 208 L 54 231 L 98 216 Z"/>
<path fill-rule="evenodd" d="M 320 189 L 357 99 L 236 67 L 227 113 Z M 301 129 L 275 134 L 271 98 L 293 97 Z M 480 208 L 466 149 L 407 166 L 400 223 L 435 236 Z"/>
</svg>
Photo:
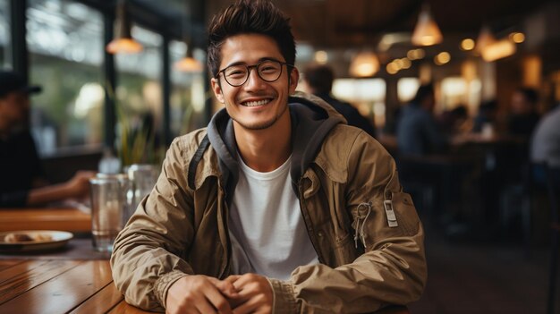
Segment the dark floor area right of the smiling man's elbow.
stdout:
<svg viewBox="0 0 560 314">
<path fill-rule="evenodd" d="M 434 229 L 427 226 L 428 284 L 409 307 L 412 313 L 546 313 L 546 244 L 536 245 L 528 258 L 521 241 L 452 241 Z"/>
</svg>

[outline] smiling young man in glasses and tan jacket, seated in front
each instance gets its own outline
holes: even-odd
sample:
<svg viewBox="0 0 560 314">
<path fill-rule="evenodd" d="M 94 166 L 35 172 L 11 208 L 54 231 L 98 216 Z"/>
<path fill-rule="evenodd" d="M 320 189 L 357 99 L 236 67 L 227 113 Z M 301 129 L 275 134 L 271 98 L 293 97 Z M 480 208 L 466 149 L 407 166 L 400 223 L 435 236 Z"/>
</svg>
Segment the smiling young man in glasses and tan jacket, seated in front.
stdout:
<svg viewBox="0 0 560 314">
<path fill-rule="evenodd" d="M 331 106 L 293 94 L 287 19 L 242 0 L 208 33 L 225 109 L 174 140 L 117 237 L 126 301 L 171 313 L 340 313 L 417 300 L 423 231 L 395 162 Z"/>
</svg>

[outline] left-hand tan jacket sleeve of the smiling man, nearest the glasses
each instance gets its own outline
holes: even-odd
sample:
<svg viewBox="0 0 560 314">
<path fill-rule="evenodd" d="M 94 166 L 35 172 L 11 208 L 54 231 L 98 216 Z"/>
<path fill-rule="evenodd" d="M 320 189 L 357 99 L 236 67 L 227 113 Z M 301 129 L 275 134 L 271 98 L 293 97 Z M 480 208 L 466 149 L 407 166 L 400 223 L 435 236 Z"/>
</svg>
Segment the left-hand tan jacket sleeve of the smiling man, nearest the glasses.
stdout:
<svg viewBox="0 0 560 314">
<path fill-rule="evenodd" d="M 144 310 L 163 311 L 169 286 L 193 273 L 180 258 L 193 237 L 192 192 L 180 144 L 171 144 L 156 186 L 117 236 L 111 256 L 117 288 Z"/>
</svg>

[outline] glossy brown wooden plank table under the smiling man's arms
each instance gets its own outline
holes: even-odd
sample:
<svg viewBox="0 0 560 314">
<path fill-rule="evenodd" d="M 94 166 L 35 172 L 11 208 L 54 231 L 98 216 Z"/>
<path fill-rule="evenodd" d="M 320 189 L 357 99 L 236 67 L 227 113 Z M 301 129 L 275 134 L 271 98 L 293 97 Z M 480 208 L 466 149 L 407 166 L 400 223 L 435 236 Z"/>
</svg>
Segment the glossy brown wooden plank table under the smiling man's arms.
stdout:
<svg viewBox="0 0 560 314">
<path fill-rule="evenodd" d="M 0 313 L 148 312 L 123 300 L 106 259 L 0 259 Z M 393 307 L 378 313 L 410 312 Z"/>
</svg>

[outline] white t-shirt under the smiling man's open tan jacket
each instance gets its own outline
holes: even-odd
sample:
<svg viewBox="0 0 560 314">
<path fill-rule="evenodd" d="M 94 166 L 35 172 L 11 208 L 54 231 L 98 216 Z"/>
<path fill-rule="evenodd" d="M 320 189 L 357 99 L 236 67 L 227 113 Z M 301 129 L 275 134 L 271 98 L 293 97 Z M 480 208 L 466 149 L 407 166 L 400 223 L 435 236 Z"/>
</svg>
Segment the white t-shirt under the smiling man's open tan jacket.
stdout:
<svg viewBox="0 0 560 314">
<path fill-rule="evenodd" d="M 292 189 L 291 159 L 259 173 L 238 157 L 242 171 L 229 214 L 233 274 L 285 280 L 296 267 L 318 263 Z"/>
</svg>

